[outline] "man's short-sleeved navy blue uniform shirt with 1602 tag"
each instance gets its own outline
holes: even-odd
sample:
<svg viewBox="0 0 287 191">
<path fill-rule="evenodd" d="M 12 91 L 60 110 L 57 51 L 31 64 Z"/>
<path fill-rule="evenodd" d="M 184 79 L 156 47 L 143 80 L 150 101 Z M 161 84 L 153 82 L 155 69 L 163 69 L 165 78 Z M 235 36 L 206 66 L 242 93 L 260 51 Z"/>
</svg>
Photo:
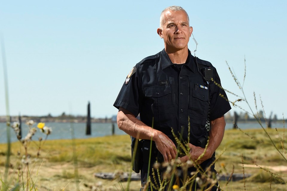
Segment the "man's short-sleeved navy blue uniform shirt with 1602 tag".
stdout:
<svg viewBox="0 0 287 191">
<path fill-rule="evenodd" d="M 114 106 L 123 107 L 135 116 L 140 114 L 144 124 L 163 132 L 174 142 L 171 129 L 176 136 L 187 141 L 190 123 L 189 142 L 194 144 L 206 131 L 209 102 L 210 120 L 221 117 L 231 109 L 228 101 L 222 98 L 227 98 L 225 91 L 213 81 L 207 85 L 196 61 L 199 65 L 212 67 L 213 80 L 221 84 L 210 62 L 199 58 L 195 60 L 189 51 L 186 63 L 179 70 L 162 50 L 135 65 Z"/>
</svg>

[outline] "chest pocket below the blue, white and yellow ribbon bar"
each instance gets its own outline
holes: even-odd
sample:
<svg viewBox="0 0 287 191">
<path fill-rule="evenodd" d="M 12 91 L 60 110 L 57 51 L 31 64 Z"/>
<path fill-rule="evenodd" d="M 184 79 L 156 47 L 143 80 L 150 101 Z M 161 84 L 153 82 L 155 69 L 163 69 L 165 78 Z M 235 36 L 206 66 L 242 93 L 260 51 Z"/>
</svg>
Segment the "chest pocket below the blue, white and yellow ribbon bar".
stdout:
<svg viewBox="0 0 287 191">
<path fill-rule="evenodd" d="M 208 90 L 203 88 L 192 88 L 192 96 L 189 103 L 189 108 L 193 115 L 206 118 L 208 110 Z"/>
</svg>

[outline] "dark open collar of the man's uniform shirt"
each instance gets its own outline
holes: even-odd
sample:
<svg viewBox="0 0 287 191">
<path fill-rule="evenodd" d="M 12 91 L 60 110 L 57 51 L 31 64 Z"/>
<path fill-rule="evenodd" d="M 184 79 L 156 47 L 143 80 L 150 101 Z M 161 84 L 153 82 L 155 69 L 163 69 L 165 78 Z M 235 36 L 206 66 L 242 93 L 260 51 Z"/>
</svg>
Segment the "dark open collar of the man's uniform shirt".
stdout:
<svg viewBox="0 0 287 191">
<path fill-rule="evenodd" d="M 164 70 L 167 67 L 172 66 L 173 63 L 168 57 L 167 52 L 165 50 L 161 51 L 161 69 Z M 197 71 L 196 63 L 194 61 L 194 56 L 191 55 L 190 50 L 188 50 L 188 57 L 185 62 L 185 66 L 188 67 L 193 73 Z"/>
</svg>

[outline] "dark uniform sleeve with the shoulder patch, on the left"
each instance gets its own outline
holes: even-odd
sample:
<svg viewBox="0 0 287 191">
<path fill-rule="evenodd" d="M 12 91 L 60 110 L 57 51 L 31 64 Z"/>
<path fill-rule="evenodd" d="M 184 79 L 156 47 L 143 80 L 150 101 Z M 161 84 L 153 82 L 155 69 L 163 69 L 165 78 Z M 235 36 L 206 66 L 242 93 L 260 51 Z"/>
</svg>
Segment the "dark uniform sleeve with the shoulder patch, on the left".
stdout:
<svg viewBox="0 0 287 191">
<path fill-rule="evenodd" d="M 120 107 L 131 112 L 135 117 L 138 116 L 141 105 L 141 89 L 139 81 L 139 69 L 137 66 L 134 67 L 135 73 L 130 76 L 127 76 L 126 81 L 124 82 L 119 95 L 114 103 L 114 107 L 119 109 Z M 132 71 L 131 71 L 132 72 Z"/>
</svg>

